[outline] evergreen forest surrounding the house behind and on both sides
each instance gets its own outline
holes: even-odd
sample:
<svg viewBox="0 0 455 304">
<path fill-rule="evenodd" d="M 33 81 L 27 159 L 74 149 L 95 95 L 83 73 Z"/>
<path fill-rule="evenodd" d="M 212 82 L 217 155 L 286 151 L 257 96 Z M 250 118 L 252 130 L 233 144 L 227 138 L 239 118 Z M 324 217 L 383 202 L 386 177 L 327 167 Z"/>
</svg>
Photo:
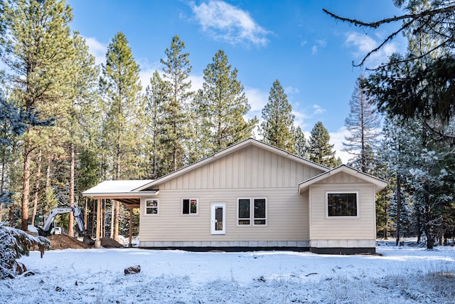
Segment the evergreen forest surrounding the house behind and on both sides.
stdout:
<svg viewBox="0 0 455 304">
<path fill-rule="evenodd" d="M 353 83 L 343 101 L 350 105 L 343 150 L 348 165 L 388 182 L 377 195 L 378 238 L 417 237 L 432 248 L 453 243 L 455 233 L 455 6 L 395 4 L 405 15 L 376 23 L 326 11 L 366 28 L 402 23 L 408 41 L 406 53 Z M 262 117 L 246 118 L 245 88 L 223 50 L 207 58 L 202 88 L 194 90 L 191 54 L 178 35 L 169 37 L 156 58 L 161 70 L 141 83 L 127 36 L 115 33 L 96 65 L 70 28 L 72 14 L 64 0 L 0 1 L 0 222 L 26 231 L 53 207 L 77 204 L 93 234 L 95 203 L 82 197 L 86 189 L 156 179 L 249 137 L 326 167 L 341 164 L 323 122 L 308 138 L 296 125 L 279 80 L 270 84 Z M 103 201 L 102 219 L 102 235 L 129 234 L 119 202 Z M 133 234 L 138 221 L 134 211 Z M 71 214 L 57 225 L 75 234 Z"/>
</svg>

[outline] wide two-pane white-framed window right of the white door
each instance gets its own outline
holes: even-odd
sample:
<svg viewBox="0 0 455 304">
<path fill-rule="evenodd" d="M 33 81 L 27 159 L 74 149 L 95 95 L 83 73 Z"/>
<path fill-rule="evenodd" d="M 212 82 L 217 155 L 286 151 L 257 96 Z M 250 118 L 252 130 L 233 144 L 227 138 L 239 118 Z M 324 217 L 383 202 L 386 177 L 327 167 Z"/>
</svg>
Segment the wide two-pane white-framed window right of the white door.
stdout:
<svg viewBox="0 0 455 304">
<path fill-rule="evenodd" d="M 237 225 L 266 225 L 267 199 L 251 197 L 237 199 Z"/>
</svg>

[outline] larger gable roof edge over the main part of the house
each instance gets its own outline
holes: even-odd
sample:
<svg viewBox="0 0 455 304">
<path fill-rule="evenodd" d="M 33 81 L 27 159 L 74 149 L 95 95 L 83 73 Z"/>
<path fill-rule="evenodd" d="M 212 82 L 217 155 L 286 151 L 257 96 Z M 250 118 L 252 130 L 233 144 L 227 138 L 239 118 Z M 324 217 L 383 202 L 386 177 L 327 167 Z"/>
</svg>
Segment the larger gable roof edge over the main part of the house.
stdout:
<svg viewBox="0 0 455 304">
<path fill-rule="evenodd" d="M 312 167 L 314 169 L 319 169 L 319 170 L 322 170 L 322 171 L 328 171 L 328 167 L 325 167 L 321 164 L 316 164 L 316 162 L 311 162 L 309 161 L 308 159 L 304 159 L 302 157 L 298 157 L 297 155 L 294 155 L 294 154 L 291 154 L 285 150 L 282 150 L 282 149 L 279 149 L 277 147 L 274 147 L 272 145 L 268 145 L 264 142 L 259 142 L 259 140 L 255 140 L 254 138 L 248 138 L 247 140 L 243 140 L 242 142 L 238 142 L 237 144 L 235 145 L 232 145 L 232 146 L 229 146 L 223 150 L 220 150 L 219 152 L 215 152 L 215 154 L 212 154 L 210 155 L 209 157 L 205 157 L 204 159 L 201 159 L 200 161 L 198 162 L 195 162 L 193 164 L 189 164 L 188 166 L 186 167 L 183 167 L 181 169 L 178 169 L 174 172 L 171 172 L 169 174 L 166 174 L 164 175 L 163 177 L 160 177 L 159 179 L 154 179 L 153 181 L 147 183 L 147 184 L 144 184 L 140 187 L 138 187 L 137 189 L 134 189 L 134 191 L 144 191 L 144 190 L 147 190 L 147 189 L 153 189 L 154 186 L 156 186 L 157 184 L 161 184 L 163 182 L 166 182 L 170 179 L 174 179 L 176 177 L 179 177 L 181 176 L 182 174 L 186 174 L 187 172 L 190 172 L 192 171 L 193 169 L 197 169 L 198 167 L 201 167 L 205 164 L 209 164 L 210 162 L 213 162 L 215 161 L 216 159 L 219 159 L 220 157 L 224 157 L 228 154 L 231 154 L 233 152 L 236 152 L 236 151 L 239 151 L 245 147 L 248 147 L 248 146 L 255 146 L 255 147 L 260 147 L 264 150 L 267 150 L 267 151 L 270 151 L 270 152 L 273 152 L 275 154 L 279 154 L 281 155 L 282 157 L 286 157 L 288 159 L 292 159 L 296 162 L 299 162 L 301 164 L 306 164 L 307 166 L 309 167 Z"/>
</svg>

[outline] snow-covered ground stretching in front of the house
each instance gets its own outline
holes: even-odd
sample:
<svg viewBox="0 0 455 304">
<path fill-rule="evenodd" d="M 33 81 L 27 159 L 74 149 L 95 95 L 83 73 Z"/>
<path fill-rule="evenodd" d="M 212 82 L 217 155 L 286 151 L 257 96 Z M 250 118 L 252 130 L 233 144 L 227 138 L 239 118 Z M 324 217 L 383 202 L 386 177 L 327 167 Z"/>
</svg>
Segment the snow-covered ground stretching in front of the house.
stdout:
<svg viewBox="0 0 455 304">
<path fill-rule="evenodd" d="M 455 303 L 454 247 L 377 251 L 34 251 L 21 262 L 35 275 L 0 281 L 0 303 Z"/>
</svg>

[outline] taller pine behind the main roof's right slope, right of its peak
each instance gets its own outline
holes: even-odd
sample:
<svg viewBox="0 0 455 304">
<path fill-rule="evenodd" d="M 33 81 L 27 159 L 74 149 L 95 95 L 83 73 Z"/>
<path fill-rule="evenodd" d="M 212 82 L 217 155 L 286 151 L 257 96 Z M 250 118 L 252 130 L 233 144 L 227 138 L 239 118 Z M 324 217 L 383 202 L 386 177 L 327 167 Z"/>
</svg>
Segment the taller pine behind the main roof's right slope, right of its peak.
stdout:
<svg viewBox="0 0 455 304">
<path fill-rule="evenodd" d="M 295 153 L 294 114 L 282 85 L 275 80 L 270 88 L 269 102 L 262 109 L 260 132 L 267 144 Z"/>
</svg>

